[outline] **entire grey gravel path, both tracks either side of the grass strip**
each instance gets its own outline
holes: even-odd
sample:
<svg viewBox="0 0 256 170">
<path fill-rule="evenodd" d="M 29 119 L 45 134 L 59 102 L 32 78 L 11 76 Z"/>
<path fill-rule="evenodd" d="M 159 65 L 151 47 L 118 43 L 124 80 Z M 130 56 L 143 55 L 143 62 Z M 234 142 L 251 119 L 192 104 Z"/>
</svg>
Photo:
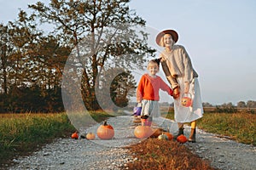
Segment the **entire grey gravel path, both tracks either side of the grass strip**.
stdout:
<svg viewBox="0 0 256 170">
<path fill-rule="evenodd" d="M 42 150 L 32 156 L 15 159 L 16 164 L 9 169 L 119 169 L 125 163 L 134 161 L 128 150 L 122 147 L 136 144 L 139 139 L 133 135 L 136 124 L 131 116 L 112 117 L 108 123 L 115 129 L 114 139 L 89 141 L 86 139 L 57 139 L 47 144 Z M 176 123 L 163 118 L 155 119 L 154 126 L 169 127 L 171 133 L 177 128 Z M 96 133 L 93 126 L 84 129 L 86 132 Z M 83 130 L 83 129 L 81 129 Z M 185 134 L 189 136 L 189 127 L 185 127 Z M 202 158 L 212 162 L 212 167 L 219 169 L 256 169 L 256 148 L 239 144 L 228 139 L 220 139 L 215 134 L 197 131 L 197 143 L 186 145 Z"/>
</svg>

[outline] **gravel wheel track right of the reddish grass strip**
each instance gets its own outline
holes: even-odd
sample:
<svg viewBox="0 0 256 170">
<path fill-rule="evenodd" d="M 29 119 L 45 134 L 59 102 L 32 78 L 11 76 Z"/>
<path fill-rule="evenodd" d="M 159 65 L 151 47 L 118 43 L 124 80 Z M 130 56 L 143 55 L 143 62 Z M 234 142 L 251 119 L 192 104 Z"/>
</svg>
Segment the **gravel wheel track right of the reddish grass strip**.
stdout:
<svg viewBox="0 0 256 170">
<path fill-rule="evenodd" d="M 218 138 L 216 134 L 198 130 L 197 143 L 189 148 L 202 158 L 212 161 L 212 167 L 219 169 L 256 169 L 256 147 L 236 141 Z"/>
</svg>

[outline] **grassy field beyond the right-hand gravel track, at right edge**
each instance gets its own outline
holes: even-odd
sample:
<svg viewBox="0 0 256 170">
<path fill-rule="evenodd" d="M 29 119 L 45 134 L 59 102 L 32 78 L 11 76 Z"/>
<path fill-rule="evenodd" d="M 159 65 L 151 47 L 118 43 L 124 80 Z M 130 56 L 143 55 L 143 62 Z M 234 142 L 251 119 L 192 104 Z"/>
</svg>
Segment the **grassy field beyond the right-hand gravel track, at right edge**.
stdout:
<svg viewBox="0 0 256 170">
<path fill-rule="evenodd" d="M 244 144 L 256 145 L 256 115 L 246 112 L 208 113 L 198 121 L 198 127 L 210 133 L 229 136 Z"/>
</svg>

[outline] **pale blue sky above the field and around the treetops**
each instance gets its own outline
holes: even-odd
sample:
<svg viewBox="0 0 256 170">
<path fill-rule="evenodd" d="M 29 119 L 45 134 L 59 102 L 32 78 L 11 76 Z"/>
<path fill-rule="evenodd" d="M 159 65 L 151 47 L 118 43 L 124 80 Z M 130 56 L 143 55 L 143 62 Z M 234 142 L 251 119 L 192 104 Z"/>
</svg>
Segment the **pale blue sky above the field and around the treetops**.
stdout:
<svg viewBox="0 0 256 170">
<path fill-rule="evenodd" d="M 0 22 L 15 20 L 18 8 L 35 2 L 0 0 Z M 204 102 L 256 100 L 256 1 L 131 0 L 130 8 L 147 26 L 178 32 L 177 44 L 187 49 L 200 75 Z"/>
</svg>

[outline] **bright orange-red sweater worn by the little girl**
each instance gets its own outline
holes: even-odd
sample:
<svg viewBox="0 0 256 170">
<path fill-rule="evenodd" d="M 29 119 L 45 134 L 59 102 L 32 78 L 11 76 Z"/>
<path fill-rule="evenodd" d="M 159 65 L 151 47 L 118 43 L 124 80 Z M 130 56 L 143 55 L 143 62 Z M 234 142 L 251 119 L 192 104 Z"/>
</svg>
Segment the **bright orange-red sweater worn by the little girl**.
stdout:
<svg viewBox="0 0 256 170">
<path fill-rule="evenodd" d="M 172 95 L 172 89 L 160 77 L 150 77 L 144 74 L 137 86 L 137 101 L 142 99 L 159 101 L 159 90 L 162 89 Z"/>
</svg>

